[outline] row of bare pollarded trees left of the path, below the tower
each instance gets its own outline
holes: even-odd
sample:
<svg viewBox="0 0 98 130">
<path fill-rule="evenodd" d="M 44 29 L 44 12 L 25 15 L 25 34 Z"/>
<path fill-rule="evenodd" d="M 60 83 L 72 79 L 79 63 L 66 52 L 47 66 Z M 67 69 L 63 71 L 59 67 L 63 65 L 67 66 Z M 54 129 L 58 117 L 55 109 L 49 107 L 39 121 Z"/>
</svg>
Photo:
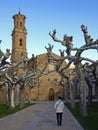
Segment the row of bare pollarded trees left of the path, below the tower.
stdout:
<svg viewBox="0 0 98 130">
<path fill-rule="evenodd" d="M 40 69 L 37 56 L 35 57 L 33 54 L 30 59 L 22 56 L 17 63 L 8 62 L 10 57 L 9 49 L 6 49 L 6 53 L 0 50 L 0 87 L 5 88 L 9 108 L 15 108 L 17 105 L 22 108 L 25 88 L 29 88 L 28 102 L 30 102 L 31 89 L 38 86 L 38 79 L 43 75 L 47 64 Z"/>
</svg>

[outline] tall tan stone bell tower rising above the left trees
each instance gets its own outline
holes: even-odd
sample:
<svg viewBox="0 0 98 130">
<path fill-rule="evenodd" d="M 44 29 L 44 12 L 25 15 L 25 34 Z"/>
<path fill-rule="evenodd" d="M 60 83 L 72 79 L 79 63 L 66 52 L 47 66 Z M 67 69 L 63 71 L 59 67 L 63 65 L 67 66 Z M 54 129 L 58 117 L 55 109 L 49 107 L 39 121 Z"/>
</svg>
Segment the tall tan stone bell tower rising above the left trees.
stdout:
<svg viewBox="0 0 98 130">
<path fill-rule="evenodd" d="M 17 62 L 22 56 L 27 57 L 26 36 L 27 30 L 25 27 L 26 17 L 20 12 L 13 16 L 14 29 L 12 31 L 12 62 Z"/>
</svg>

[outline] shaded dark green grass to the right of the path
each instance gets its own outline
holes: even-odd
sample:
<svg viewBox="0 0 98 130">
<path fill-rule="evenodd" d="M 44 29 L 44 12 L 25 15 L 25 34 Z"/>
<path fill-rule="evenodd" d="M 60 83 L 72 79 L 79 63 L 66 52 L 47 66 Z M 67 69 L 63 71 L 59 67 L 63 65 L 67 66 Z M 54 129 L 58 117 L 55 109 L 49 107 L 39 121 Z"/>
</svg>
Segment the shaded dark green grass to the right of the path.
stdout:
<svg viewBox="0 0 98 130">
<path fill-rule="evenodd" d="M 66 106 L 85 130 L 98 130 L 98 102 L 87 105 L 88 114 L 86 117 L 80 116 L 79 103 L 76 103 L 75 110 L 71 109 L 69 103 L 66 103 Z"/>
</svg>

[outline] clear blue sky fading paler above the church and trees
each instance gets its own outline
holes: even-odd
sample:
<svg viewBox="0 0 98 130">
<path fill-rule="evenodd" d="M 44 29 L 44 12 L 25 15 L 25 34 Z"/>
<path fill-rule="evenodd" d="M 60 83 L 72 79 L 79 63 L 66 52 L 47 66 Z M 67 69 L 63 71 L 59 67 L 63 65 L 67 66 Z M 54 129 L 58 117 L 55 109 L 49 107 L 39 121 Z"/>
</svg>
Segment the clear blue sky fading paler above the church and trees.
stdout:
<svg viewBox="0 0 98 130">
<path fill-rule="evenodd" d="M 46 53 L 48 43 L 54 45 L 53 52 L 65 50 L 60 43 L 54 42 L 49 32 L 56 29 L 57 37 L 64 34 L 73 36 L 74 47 L 85 44 L 80 26 L 88 27 L 91 37 L 98 38 L 98 0 L 2 0 L 0 1 L 0 48 L 12 49 L 11 33 L 14 27 L 12 16 L 21 11 L 26 16 L 28 56 Z M 98 59 L 96 50 L 83 56 Z"/>
</svg>

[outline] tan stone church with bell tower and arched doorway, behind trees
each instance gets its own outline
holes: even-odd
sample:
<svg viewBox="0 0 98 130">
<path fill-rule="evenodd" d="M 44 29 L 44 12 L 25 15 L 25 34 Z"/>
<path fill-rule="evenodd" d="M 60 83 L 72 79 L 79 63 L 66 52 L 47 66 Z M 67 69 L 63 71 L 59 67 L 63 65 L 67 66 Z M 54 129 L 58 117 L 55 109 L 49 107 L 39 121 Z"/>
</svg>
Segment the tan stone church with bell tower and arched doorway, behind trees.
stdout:
<svg viewBox="0 0 98 130">
<path fill-rule="evenodd" d="M 14 19 L 14 28 L 12 31 L 12 57 L 11 62 L 17 62 L 21 59 L 21 56 L 27 56 L 28 53 L 26 49 L 26 38 L 27 38 L 27 29 L 25 26 L 26 16 L 21 14 L 15 14 Z M 32 46 L 32 51 L 34 46 Z M 55 57 L 59 57 L 56 54 L 53 54 Z M 40 54 L 37 56 L 40 66 L 44 66 L 47 62 L 47 53 Z M 66 64 L 66 63 L 65 63 Z M 53 69 L 53 66 L 48 65 L 48 69 Z M 54 72 L 49 75 L 40 77 L 39 85 L 32 89 L 31 99 L 32 100 L 55 100 L 59 95 L 63 96 L 63 87 L 59 86 L 55 80 L 60 80 L 60 76 Z M 25 91 L 25 98 L 27 98 L 28 89 Z"/>
</svg>

